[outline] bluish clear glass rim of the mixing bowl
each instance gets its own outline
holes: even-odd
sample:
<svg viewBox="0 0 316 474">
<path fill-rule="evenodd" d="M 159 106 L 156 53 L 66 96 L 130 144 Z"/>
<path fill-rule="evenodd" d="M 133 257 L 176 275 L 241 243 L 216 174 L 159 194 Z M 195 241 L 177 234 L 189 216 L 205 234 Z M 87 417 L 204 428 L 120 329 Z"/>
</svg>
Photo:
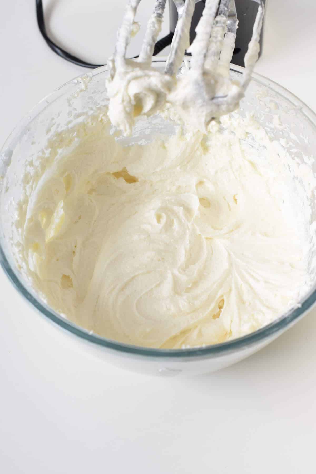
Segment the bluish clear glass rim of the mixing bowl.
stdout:
<svg viewBox="0 0 316 474">
<path fill-rule="evenodd" d="M 164 63 L 166 61 L 165 56 L 159 56 L 157 58 L 153 58 L 153 63 Z M 188 56 L 190 60 L 190 56 Z M 108 70 L 108 66 L 102 66 L 97 69 L 94 69 L 89 75 L 91 77 L 98 75 L 100 73 L 104 73 Z M 231 70 L 236 73 L 243 73 L 244 68 L 241 66 L 237 66 L 235 64 L 231 64 Z M 0 153 L 3 153 L 6 149 L 9 148 L 9 144 L 16 144 L 18 141 L 18 137 L 20 137 L 21 132 L 27 127 L 27 125 L 37 117 L 40 113 L 44 112 L 46 107 L 52 103 L 54 100 L 57 100 L 61 97 L 60 92 L 67 89 L 67 86 L 73 85 L 75 79 L 79 79 L 82 77 L 83 74 L 74 78 L 68 82 L 65 82 L 63 85 L 55 89 L 53 92 L 48 94 L 44 99 L 40 100 L 36 106 L 34 106 L 28 114 L 20 120 L 18 125 L 12 130 L 9 137 L 7 138 L 6 142 L 2 146 Z M 309 107 L 302 102 L 298 97 L 294 94 L 289 92 L 284 87 L 280 86 L 274 81 L 262 76 L 258 73 L 252 74 L 252 79 L 256 82 L 269 87 L 271 90 L 277 92 L 279 95 L 284 97 L 287 100 L 290 100 L 296 107 L 299 107 L 299 113 L 303 114 L 305 118 L 311 123 L 311 125 L 315 128 L 316 133 L 316 114 L 313 110 L 309 109 Z M 67 91 L 66 91 L 67 92 Z M 65 93 L 66 93 L 65 92 Z M 2 239 L 2 237 L 1 237 Z M 151 357 L 159 357 L 159 358 L 196 358 L 196 357 L 203 357 L 203 356 L 223 356 L 227 353 L 235 352 L 242 350 L 246 347 L 253 346 L 255 344 L 262 343 L 265 339 L 272 338 L 273 336 L 278 335 L 279 333 L 283 332 L 286 328 L 290 327 L 294 324 L 300 317 L 304 315 L 304 313 L 311 308 L 311 306 L 316 302 L 316 284 L 313 286 L 312 290 L 307 293 L 304 301 L 301 302 L 301 305 L 298 308 L 294 308 L 284 315 L 280 316 L 280 318 L 276 319 L 275 321 L 271 322 L 267 326 L 264 326 L 250 334 L 247 334 L 243 337 L 238 337 L 236 339 L 232 339 L 230 341 L 226 341 L 220 344 L 214 344 L 211 346 L 203 346 L 203 347 L 192 347 L 186 349 L 159 349 L 159 348 L 150 348 L 150 347 L 142 347 L 142 346 L 133 346 L 129 344 L 120 343 L 111 339 L 107 339 L 105 337 L 98 336 L 96 334 L 90 333 L 87 329 L 81 328 L 76 324 L 72 323 L 71 321 L 64 319 L 54 310 L 49 308 L 44 302 L 38 301 L 31 292 L 27 289 L 27 286 L 23 281 L 20 280 L 16 269 L 12 268 L 9 263 L 9 259 L 6 256 L 5 250 L 3 246 L 0 244 L 0 264 L 4 270 L 4 272 L 9 277 L 13 286 L 18 290 L 20 294 L 24 296 L 24 298 L 34 307 L 36 308 L 43 316 L 48 318 L 53 323 L 57 324 L 60 328 L 69 331 L 75 336 L 82 338 L 83 340 L 89 341 L 90 343 L 106 347 L 108 349 L 114 349 L 115 351 L 126 353 L 126 354 L 135 354 L 139 356 L 151 356 Z"/>
</svg>

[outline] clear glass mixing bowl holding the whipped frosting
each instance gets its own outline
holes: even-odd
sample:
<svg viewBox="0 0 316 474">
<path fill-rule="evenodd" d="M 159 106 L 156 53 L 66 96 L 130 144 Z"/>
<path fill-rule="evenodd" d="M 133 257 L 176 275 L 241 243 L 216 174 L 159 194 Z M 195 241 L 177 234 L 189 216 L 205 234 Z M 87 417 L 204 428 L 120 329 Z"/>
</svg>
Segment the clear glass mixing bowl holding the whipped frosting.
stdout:
<svg viewBox="0 0 316 474">
<path fill-rule="evenodd" d="M 153 60 L 153 66 L 163 70 L 166 58 Z M 234 78 L 243 73 L 243 68 L 232 65 Z M 21 169 L 32 155 L 43 152 L 49 137 L 95 113 L 107 104 L 105 79 L 107 66 L 67 82 L 39 102 L 34 109 L 13 130 L 0 152 L 1 185 L 1 232 L 0 263 L 9 279 L 27 301 L 48 320 L 58 325 L 60 330 L 74 337 L 83 350 L 94 352 L 98 357 L 131 370 L 150 374 L 180 375 L 211 372 L 234 364 L 280 336 L 297 322 L 316 301 L 316 284 L 300 306 L 290 310 L 271 324 L 248 334 L 221 344 L 190 349 L 152 349 L 131 346 L 99 337 L 77 326 L 48 307 L 36 294 L 30 283 L 17 267 L 9 236 L 14 227 L 13 204 L 21 193 Z M 304 157 L 316 150 L 316 115 L 297 97 L 275 82 L 259 74 L 253 74 L 246 97 L 241 102 L 240 113 L 254 112 L 256 119 L 275 139 L 293 140 L 295 156 L 300 163 Z M 286 129 L 275 124 L 280 121 Z M 143 135 L 150 135 L 153 123 L 148 122 Z M 141 139 L 142 133 L 134 141 Z M 316 163 L 313 162 L 316 173 Z M 315 197 L 313 198 L 315 200 Z M 316 202 L 312 220 L 316 218 Z"/>
</svg>

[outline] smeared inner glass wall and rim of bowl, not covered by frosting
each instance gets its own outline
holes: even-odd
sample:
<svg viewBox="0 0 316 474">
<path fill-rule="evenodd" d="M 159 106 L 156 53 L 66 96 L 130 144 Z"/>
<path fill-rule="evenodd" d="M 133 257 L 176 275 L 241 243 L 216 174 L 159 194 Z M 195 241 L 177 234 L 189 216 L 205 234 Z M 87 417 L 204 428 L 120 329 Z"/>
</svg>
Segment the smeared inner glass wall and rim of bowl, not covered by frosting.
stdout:
<svg viewBox="0 0 316 474">
<path fill-rule="evenodd" d="M 153 66 L 161 71 L 164 65 L 163 58 L 153 61 Z M 233 66 L 231 69 L 231 75 L 235 79 L 238 79 L 242 72 L 243 68 L 238 66 Z M 51 157 L 50 140 L 54 140 L 58 134 L 59 137 L 62 136 L 63 130 L 86 120 L 89 115 L 106 113 L 108 98 L 105 80 L 107 75 L 108 70 L 104 66 L 58 88 L 30 111 L 29 115 L 11 133 L 1 150 L 0 260 L 18 291 L 43 315 L 77 336 L 101 346 L 141 355 L 193 356 L 235 350 L 269 337 L 298 319 L 314 303 L 315 287 L 306 295 L 300 307 L 247 336 L 198 349 L 148 349 L 129 346 L 90 334 L 89 331 L 57 314 L 36 294 L 27 275 L 23 273 L 23 269 L 18 266 L 14 257 L 14 245 L 19 240 L 19 229 L 16 225 L 17 206 L 22 193 L 25 192 L 23 190 L 27 179 L 21 170 L 26 164 L 32 164 L 40 170 L 45 165 L 45 159 Z M 316 116 L 307 106 L 277 84 L 254 74 L 239 110 L 241 115 L 249 112 L 254 114 L 256 120 L 268 131 L 272 139 L 281 141 L 287 147 L 287 151 L 295 156 L 298 164 L 311 167 L 316 174 L 313 156 L 316 149 Z M 161 118 L 154 116 L 149 120 L 141 120 L 132 137 L 121 137 L 120 140 L 125 145 L 129 145 L 141 140 L 148 142 L 157 133 L 170 135 L 173 132 L 174 126 L 171 123 L 166 124 Z M 312 223 L 316 218 L 315 194 L 311 196 L 310 201 Z"/>
</svg>

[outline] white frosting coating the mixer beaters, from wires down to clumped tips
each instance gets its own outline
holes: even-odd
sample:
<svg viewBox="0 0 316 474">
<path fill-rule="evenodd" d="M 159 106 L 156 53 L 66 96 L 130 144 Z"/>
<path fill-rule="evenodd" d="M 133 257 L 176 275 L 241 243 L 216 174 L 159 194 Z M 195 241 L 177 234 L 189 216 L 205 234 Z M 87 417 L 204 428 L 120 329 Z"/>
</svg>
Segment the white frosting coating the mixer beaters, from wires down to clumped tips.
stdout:
<svg viewBox="0 0 316 474">
<path fill-rule="evenodd" d="M 194 1 L 190 1 L 193 6 Z M 114 57 L 108 60 L 108 115 L 111 122 L 125 135 L 131 134 L 136 117 L 149 117 L 162 111 L 166 104 L 177 111 L 178 119 L 181 118 L 188 128 L 204 133 L 207 133 L 208 124 L 213 118 L 219 118 L 239 107 L 259 55 L 263 7 L 259 2 L 253 36 L 244 57 L 244 73 L 240 80 L 232 80 L 229 68 L 236 35 L 235 31 L 228 30 L 226 18 L 218 15 L 209 38 L 209 23 L 213 23 L 215 15 L 214 5 L 216 3 L 206 4 L 196 30 L 197 36 L 188 49 L 192 53 L 190 68 L 189 62 L 186 61 L 187 67 L 182 67 L 181 73 L 176 75 L 178 71 L 173 71 L 174 66 L 180 64 L 179 57 L 176 56 L 189 46 L 190 22 L 187 22 L 182 35 L 177 37 L 178 53 L 172 50 L 175 57 L 171 52 L 173 59 L 168 57 L 166 70 L 158 71 L 151 66 L 148 58 L 142 61 L 142 52 L 136 60 L 122 57 L 129 29 L 133 30 L 130 25 L 135 25 L 135 22 L 131 23 L 135 9 L 128 4 L 126 18 L 130 16 L 129 21 L 123 21 L 117 38 L 116 52 Z M 153 15 L 151 21 L 151 28 L 160 31 L 161 17 Z M 121 54 L 118 54 L 118 51 Z"/>
</svg>

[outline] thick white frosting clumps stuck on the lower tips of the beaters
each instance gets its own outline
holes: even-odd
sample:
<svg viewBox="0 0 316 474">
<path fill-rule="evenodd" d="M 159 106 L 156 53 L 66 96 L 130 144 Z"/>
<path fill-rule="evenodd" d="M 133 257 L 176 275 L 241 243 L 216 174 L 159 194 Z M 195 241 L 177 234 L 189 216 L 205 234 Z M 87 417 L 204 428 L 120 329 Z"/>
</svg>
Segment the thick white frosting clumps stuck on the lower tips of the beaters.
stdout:
<svg viewBox="0 0 316 474">
<path fill-rule="evenodd" d="M 172 78 L 156 68 L 126 60 L 124 68 L 108 80 L 109 118 L 128 136 L 136 117 L 150 117 L 169 104 L 187 127 L 206 133 L 212 118 L 232 112 L 244 97 L 242 84 L 227 76 L 228 70 L 226 74 L 206 71 L 202 80 L 188 69 Z"/>
</svg>

